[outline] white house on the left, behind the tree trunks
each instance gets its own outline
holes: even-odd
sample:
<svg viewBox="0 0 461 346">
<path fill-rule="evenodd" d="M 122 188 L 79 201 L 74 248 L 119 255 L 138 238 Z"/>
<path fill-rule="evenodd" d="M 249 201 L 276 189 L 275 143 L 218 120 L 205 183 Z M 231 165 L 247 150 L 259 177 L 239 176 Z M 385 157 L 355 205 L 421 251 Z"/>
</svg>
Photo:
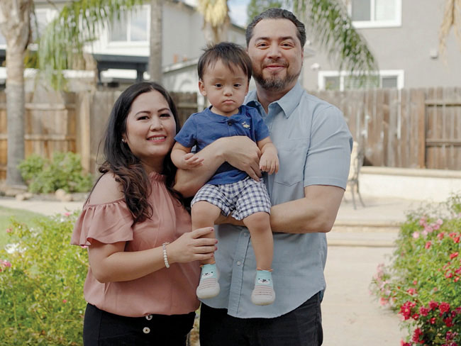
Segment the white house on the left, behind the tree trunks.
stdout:
<svg viewBox="0 0 461 346">
<path fill-rule="evenodd" d="M 60 6 L 69 1 L 52 1 Z M 38 30 L 50 22 L 57 10 L 48 0 L 35 0 Z M 170 0 L 163 5 L 162 67 L 163 84 L 170 91 L 197 91 L 196 62 L 206 46 L 201 30 L 204 18 L 196 11 L 196 0 Z M 101 30 L 99 39 L 87 47 L 97 65 L 99 82 L 118 85 L 144 77 L 148 70 L 150 5 L 145 1 L 131 13 L 121 13 L 109 28 Z M 245 29 L 231 24 L 228 40 L 245 45 Z M 0 35 L 1 52 L 6 42 Z M 26 76 L 28 75 L 26 71 Z M 0 67 L 0 84 L 5 80 L 5 69 Z"/>
</svg>

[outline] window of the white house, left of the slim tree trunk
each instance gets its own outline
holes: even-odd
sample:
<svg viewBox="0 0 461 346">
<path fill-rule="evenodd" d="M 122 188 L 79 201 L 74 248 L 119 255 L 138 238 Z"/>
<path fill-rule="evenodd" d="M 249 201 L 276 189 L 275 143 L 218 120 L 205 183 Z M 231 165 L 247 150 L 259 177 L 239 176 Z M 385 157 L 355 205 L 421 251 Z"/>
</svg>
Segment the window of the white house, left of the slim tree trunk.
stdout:
<svg viewBox="0 0 461 346">
<path fill-rule="evenodd" d="M 131 12 L 121 12 L 113 19 L 109 40 L 111 42 L 147 42 L 149 35 L 149 11 L 146 6 Z"/>
</svg>

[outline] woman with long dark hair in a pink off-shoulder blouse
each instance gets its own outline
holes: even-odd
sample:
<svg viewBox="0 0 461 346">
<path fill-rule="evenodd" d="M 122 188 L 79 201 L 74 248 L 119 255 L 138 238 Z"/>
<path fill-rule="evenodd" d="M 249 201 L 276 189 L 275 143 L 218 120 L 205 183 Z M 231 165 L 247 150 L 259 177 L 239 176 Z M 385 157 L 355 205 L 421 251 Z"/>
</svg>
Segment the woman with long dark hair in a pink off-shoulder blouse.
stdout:
<svg viewBox="0 0 461 346">
<path fill-rule="evenodd" d="M 172 189 L 177 111 L 159 84 L 140 82 L 109 118 L 103 175 L 77 219 L 72 244 L 88 247 L 84 345 L 185 345 L 199 307 L 199 261 L 213 228 L 191 230 Z"/>
</svg>

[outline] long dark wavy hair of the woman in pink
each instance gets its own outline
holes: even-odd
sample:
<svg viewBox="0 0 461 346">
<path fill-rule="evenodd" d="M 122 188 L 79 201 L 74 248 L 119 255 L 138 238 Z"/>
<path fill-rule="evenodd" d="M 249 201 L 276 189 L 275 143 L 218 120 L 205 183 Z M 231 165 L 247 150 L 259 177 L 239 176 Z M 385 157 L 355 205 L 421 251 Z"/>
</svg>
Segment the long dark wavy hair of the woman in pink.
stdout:
<svg viewBox="0 0 461 346">
<path fill-rule="evenodd" d="M 177 109 L 165 88 L 155 82 L 133 84 L 118 96 L 113 105 L 103 139 L 105 162 L 99 167 L 99 172 L 102 174 L 112 172 L 115 174 L 116 180 L 121 183 L 126 205 L 133 214 L 135 223 L 143 222 L 146 218 L 152 216 L 152 206 L 148 202 L 148 197 L 151 193 L 150 181 L 143 164 L 141 164 L 138 157 L 133 155 L 128 144 L 122 142 L 122 138 L 126 133 L 126 119 L 133 101 L 140 94 L 150 91 L 158 91 L 165 97 L 176 122 L 176 133 L 179 132 Z M 176 170 L 169 153 L 163 162 L 162 174 L 166 176 L 168 191 L 184 205 L 182 195 L 172 188 Z"/>
</svg>

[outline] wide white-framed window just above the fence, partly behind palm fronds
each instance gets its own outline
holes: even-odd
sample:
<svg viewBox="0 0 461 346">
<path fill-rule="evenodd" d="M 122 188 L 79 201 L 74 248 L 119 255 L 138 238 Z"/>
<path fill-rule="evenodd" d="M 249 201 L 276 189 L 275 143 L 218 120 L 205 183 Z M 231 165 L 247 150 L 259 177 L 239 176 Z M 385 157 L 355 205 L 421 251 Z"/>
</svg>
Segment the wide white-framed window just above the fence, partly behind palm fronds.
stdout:
<svg viewBox="0 0 461 346">
<path fill-rule="evenodd" d="M 379 76 L 369 79 L 366 84 L 360 85 L 360 80 L 350 72 L 319 71 L 318 89 L 321 90 L 350 90 L 350 89 L 372 89 L 372 88 L 397 88 L 404 87 L 404 71 L 382 70 Z"/>
</svg>

